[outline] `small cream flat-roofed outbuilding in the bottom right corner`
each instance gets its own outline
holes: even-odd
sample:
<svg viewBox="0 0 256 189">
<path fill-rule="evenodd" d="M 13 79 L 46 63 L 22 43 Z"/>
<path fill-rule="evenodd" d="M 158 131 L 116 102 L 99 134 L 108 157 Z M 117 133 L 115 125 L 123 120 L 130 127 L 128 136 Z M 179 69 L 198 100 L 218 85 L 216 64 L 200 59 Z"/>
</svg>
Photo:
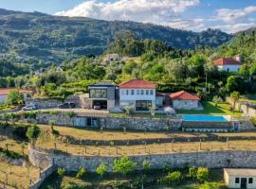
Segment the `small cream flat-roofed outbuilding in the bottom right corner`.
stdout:
<svg viewBox="0 0 256 189">
<path fill-rule="evenodd" d="M 256 188 L 256 169 L 225 168 L 224 180 L 228 188 Z"/>
</svg>

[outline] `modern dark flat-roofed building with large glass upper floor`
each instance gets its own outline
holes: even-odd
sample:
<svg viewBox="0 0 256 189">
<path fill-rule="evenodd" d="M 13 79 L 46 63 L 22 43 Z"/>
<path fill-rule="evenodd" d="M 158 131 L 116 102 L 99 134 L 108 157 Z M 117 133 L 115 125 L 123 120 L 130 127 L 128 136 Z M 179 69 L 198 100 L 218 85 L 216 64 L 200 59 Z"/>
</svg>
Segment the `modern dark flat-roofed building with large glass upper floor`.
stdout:
<svg viewBox="0 0 256 189">
<path fill-rule="evenodd" d="M 118 93 L 113 82 L 99 82 L 88 86 L 90 108 L 111 110 L 116 106 Z M 98 108 L 96 108 L 98 107 Z"/>
</svg>

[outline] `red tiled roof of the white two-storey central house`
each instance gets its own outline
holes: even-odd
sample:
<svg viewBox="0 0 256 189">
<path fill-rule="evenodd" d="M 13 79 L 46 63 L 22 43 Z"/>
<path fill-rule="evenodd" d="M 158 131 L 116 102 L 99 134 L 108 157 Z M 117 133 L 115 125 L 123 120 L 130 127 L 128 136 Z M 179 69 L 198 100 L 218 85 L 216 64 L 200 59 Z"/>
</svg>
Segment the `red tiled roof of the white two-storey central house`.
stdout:
<svg viewBox="0 0 256 189">
<path fill-rule="evenodd" d="M 156 85 L 142 79 L 131 79 L 119 84 L 120 89 L 155 89 Z"/>
</svg>

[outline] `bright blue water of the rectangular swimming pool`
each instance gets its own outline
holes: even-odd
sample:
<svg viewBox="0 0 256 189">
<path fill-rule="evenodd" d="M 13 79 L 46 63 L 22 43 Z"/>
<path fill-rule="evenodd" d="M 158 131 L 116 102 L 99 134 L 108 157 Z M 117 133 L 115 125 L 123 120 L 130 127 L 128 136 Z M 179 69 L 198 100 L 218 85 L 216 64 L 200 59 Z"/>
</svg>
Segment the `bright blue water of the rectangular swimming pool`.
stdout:
<svg viewBox="0 0 256 189">
<path fill-rule="evenodd" d="M 183 115 L 182 118 L 184 121 L 229 121 L 222 115 Z"/>
</svg>

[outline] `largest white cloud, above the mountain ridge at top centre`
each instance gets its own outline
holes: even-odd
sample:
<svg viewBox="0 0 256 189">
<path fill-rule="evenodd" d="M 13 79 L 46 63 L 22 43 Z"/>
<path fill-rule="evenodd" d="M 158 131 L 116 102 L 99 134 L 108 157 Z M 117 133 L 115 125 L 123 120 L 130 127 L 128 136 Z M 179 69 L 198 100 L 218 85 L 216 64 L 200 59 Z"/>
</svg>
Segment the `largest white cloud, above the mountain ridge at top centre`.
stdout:
<svg viewBox="0 0 256 189">
<path fill-rule="evenodd" d="M 179 17 L 178 14 L 199 3 L 199 0 L 118 0 L 108 3 L 90 0 L 55 15 L 163 25 L 172 23 L 173 19 Z"/>
</svg>

